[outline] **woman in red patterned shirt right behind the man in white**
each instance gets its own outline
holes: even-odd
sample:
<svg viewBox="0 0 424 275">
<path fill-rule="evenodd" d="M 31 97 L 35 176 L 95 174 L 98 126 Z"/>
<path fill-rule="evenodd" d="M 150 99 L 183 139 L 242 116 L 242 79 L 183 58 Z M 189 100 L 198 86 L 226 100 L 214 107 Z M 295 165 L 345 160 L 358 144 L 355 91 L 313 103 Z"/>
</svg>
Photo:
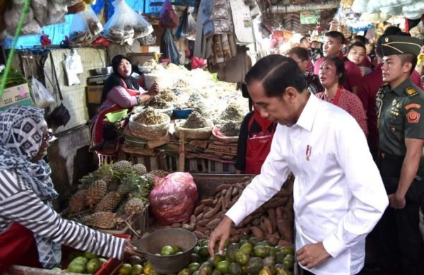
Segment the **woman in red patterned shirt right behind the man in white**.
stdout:
<svg viewBox="0 0 424 275">
<path fill-rule="evenodd" d="M 368 135 L 367 116 L 358 95 L 345 90 L 341 83 L 345 78 L 343 60 L 338 57 L 326 57 L 319 67 L 319 81 L 324 92 L 317 93 L 317 98 L 341 107 L 356 119 L 365 136 Z"/>
</svg>

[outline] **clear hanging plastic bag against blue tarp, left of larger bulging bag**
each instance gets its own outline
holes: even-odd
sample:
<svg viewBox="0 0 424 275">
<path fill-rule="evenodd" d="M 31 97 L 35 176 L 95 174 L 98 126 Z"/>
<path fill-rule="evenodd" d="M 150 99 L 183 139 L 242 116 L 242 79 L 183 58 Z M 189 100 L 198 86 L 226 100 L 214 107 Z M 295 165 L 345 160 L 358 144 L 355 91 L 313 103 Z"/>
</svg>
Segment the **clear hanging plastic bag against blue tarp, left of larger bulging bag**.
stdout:
<svg viewBox="0 0 424 275">
<path fill-rule="evenodd" d="M 93 8 L 87 6 L 86 11 L 73 16 L 69 38 L 74 43 L 90 43 L 95 40 L 103 30 L 102 23 L 95 15 Z"/>
</svg>

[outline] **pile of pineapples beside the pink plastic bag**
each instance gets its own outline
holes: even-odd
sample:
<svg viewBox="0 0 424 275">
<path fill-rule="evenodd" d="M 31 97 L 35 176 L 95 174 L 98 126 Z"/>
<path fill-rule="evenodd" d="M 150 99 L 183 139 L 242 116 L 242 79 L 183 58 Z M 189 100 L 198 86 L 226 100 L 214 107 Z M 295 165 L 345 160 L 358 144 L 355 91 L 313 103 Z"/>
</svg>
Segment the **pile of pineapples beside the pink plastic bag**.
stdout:
<svg viewBox="0 0 424 275">
<path fill-rule="evenodd" d="M 81 179 L 78 192 L 69 199 L 68 218 L 95 229 L 122 230 L 148 208 L 157 174 L 127 160 L 105 163 Z"/>
</svg>

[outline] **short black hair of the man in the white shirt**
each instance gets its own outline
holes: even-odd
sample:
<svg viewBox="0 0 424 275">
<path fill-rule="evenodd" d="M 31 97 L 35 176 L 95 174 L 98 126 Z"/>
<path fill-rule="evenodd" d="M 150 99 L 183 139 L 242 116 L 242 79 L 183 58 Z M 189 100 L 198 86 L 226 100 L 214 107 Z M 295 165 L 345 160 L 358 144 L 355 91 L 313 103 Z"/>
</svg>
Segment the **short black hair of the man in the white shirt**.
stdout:
<svg viewBox="0 0 424 275">
<path fill-rule="evenodd" d="M 247 86 L 254 81 L 261 82 L 265 95 L 280 98 L 287 87 L 295 88 L 298 93 L 306 89 L 306 80 L 298 64 L 290 57 L 270 54 L 262 57 L 246 74 Z"/>
</svg>

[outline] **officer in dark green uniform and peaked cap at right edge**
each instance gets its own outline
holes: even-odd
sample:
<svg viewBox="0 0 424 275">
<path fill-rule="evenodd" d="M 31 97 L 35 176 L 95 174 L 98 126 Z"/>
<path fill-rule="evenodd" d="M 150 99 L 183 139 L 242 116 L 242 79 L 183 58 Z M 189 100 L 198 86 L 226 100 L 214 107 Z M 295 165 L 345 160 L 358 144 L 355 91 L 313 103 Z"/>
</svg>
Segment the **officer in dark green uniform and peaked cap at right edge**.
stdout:
<svg viewBox="0 0 424 275">
<path fill-rule="evenodd" d="M 389 207 L 379 223 L 387 271 L 424 274 L 423 239 L 418 228 L 424 180 L 417 175 L 424 145 L 424 93 L 411 82 L 423 42 L 413 37 L 384 37 L 382 74 L 377 93 L 379 170 Z"/>
</svg>

